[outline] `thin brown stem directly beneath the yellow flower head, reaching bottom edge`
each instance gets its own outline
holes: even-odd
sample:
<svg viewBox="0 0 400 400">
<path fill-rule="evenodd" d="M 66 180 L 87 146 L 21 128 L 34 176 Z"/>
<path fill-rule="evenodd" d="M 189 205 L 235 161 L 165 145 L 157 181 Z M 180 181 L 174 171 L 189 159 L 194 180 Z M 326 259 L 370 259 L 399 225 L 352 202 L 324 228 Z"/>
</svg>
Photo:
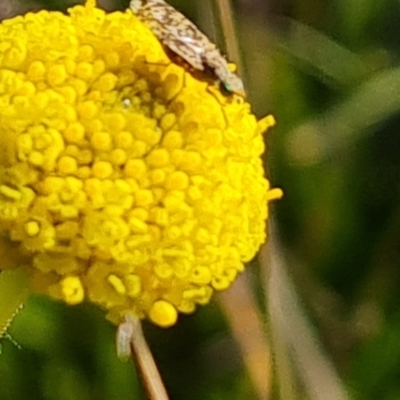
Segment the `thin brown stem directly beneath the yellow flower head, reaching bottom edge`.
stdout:
<svg viewBox="0 0 400 400">
<path fill-rule="evenodd" d="M 141 375 L 143 385 L 150 400 L 168 400 L 168 394 L 158 372 L 157 365 L 144 337 L 138 318 L 130 316 L 133 334 L 131 336 L 132 358 Z"/>
</svg>

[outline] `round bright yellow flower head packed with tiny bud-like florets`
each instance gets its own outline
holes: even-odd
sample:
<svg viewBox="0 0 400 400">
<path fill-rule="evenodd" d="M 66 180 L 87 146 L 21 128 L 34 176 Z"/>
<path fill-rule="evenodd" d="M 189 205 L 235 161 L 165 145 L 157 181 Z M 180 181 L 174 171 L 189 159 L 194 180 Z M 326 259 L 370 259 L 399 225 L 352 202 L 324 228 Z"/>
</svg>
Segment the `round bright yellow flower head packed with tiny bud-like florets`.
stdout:
<svg viewBox="0 0 400 400">
<path fill-rule="evenodd" d="M 242 98 L 93 1 L 0 25 L 1 268 L 173 325 L 265 240 L 262 132 Z"/>
</svg>

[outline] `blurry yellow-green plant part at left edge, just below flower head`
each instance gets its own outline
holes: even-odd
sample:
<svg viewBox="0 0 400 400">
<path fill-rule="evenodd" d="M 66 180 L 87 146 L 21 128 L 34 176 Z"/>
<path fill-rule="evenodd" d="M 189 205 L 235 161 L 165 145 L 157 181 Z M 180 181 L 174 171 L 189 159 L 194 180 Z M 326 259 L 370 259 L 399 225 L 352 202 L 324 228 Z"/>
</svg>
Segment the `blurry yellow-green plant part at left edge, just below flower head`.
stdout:
<svg viewBox="0 0 400 400">
<path fill-rule="evenodd" d="M 23 269 L 0 273 L 0 339 L 29 294 L 28 276 Z"/>
</svg>

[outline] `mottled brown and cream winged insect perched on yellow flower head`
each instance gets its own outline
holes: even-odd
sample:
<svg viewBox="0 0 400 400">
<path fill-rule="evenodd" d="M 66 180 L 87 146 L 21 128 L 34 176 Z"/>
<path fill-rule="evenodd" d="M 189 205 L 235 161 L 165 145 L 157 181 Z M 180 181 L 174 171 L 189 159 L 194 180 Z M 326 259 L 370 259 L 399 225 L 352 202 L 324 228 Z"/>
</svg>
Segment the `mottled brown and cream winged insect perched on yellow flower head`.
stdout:
<svg viewBox="0 0 400 400">
<path fill-rule="evenodd" d="M 213 71 L 229 92 L 245 95 L 243 82 L 218 47 L 183 14 L 164 0 L 131 0 L 129 7 L 164 46 L 193 68 Z"/>
</svg>

